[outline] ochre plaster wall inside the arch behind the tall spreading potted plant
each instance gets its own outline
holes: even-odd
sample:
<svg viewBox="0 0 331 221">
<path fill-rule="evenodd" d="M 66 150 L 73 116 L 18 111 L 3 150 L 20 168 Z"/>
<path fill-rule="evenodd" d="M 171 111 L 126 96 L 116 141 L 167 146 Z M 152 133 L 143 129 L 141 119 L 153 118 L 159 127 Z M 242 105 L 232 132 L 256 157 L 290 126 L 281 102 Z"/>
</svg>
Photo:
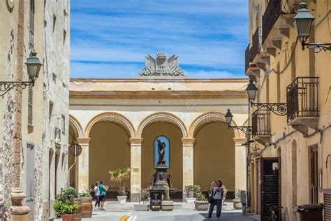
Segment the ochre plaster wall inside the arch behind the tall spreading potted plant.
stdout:
<svg viewBox="0 0 331 221">
<path fill-rule="evenodd" d="M 117 191 L 119 183 L 110 182 L 109 171 L 130 167 L 128 135 L 115 123 L 99 122 L 92 127 L 89 137 L 89 185 L 103 180 L 110 191 Z M 129 190 L 129 179 L 125 185 Z"/>
</svg>

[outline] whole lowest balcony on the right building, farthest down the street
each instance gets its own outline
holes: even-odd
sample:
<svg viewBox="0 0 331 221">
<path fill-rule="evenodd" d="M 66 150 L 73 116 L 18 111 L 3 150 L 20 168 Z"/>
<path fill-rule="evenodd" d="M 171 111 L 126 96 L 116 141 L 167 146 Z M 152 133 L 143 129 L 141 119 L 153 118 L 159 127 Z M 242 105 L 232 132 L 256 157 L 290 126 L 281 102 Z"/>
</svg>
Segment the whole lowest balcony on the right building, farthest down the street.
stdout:
<svg viewBox="0 0 331 221">
<path fill-rule="evenodd" d="M 270 110 L 256 110 L 251 118 L 253 139 L 262 145 L 270 143 Z"/>
</svg>

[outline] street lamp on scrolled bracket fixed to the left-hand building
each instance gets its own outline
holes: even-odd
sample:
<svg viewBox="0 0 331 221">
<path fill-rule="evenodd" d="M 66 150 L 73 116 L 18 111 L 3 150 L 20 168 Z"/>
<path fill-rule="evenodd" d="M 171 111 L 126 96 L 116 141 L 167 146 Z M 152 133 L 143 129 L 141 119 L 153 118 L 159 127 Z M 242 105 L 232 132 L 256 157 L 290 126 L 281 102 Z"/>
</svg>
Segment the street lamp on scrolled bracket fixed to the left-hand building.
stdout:
<svg viewBox="0 0 331 221">
<path fill-rule="evenodd" d="M 37 53 L 33 50 L 31 51 L 30 57 L 27 59 L 25 64 L 27 65 L 27 71 L 29 74 L 29 81 L 0 81 L 0 96 L 3 97 L 4 94 L 12 90 L 14 87 L 22 87 L 23 89 L 29 85 L 34 86 L 34 81 L 39 76 L 39 71 L 41 70 L 41 62 L 36 56 Z"/>
</svg>

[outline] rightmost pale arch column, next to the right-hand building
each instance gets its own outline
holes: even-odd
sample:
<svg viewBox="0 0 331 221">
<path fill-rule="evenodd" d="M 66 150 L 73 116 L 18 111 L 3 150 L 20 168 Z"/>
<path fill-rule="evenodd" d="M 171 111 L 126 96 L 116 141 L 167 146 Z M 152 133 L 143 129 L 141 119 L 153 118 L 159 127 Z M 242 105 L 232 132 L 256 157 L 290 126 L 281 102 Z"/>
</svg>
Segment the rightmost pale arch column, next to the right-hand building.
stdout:
<svg viewBox="0 0 331 221">
<path fill-rule="evenodd" d="M 235 141 L 235 189 L 246 190 L 246 146 L 242 145 L 247 138 L 233 138 Z"/>
</svg>

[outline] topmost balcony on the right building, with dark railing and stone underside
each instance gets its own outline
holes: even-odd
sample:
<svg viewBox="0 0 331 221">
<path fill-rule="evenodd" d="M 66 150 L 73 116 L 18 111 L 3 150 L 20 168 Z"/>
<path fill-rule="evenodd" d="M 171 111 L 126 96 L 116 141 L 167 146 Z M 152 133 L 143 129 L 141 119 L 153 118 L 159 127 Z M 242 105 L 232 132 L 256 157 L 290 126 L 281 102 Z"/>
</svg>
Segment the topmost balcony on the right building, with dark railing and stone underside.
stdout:
<svg viewBox="0 0 331 221">
<path fill-rule="evenodd" d="M 291 1 L 290 1 L 291 2 Z M 262 43 L 270 55 L 275 55 L 274 48 L 281 49 L 281 38 L 289 36 L 289 27 L 295 16 L 294 4 L 283 0 L 270 0 L 262 17 Z"/>
</svg>

